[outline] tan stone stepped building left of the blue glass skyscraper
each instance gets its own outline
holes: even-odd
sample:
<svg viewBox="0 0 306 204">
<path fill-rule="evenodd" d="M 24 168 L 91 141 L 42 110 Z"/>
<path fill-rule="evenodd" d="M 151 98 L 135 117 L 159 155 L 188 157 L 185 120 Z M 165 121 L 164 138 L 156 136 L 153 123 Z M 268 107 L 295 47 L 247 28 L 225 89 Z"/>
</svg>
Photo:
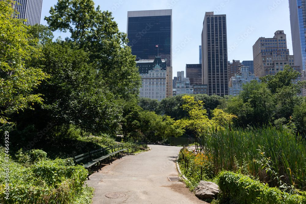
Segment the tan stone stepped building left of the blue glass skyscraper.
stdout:
<svg viewBox="0 0 306 204">
<path fill-rule="evenodd" d="M 289 55 L 284 31 L 276 31 L 273 38 L 260 37 L 253 45 L 254 74 L 259 77 L 274 75 L 285 65 L 300 72 L 294 58 L 294 55 Z"/>
</svg>

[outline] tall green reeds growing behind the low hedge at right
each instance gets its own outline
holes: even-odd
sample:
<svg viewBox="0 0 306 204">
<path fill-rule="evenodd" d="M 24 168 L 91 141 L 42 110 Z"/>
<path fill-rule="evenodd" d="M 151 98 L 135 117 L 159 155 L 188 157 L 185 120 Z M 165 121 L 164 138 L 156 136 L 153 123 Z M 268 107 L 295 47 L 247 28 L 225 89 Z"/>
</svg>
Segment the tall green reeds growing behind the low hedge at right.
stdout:
<svg viewBox="0 0 306 204">
<path fill-rule="evenodd" d="M 271 187 L 306 190 L 305 143 L 282 128 L 211 128 L 201 136 L 201 143 L 212 155 L 215 174 L 240 171 Z"/>
</svg>

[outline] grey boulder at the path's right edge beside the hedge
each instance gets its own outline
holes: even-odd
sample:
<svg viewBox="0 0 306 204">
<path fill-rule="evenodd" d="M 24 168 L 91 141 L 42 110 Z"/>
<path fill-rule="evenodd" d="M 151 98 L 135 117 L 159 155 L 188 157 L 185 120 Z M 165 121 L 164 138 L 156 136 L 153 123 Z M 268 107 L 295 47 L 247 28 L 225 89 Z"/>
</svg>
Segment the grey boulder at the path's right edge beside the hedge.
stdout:
<svg viewBox="0 0 306 204">
<path fill-rule="evenodd" d="M 196 197 L 200 199 L 216 199 L 220 190 L 217 184 L 209 181 L 200 181 L 194 189 Z"/>
</svg>

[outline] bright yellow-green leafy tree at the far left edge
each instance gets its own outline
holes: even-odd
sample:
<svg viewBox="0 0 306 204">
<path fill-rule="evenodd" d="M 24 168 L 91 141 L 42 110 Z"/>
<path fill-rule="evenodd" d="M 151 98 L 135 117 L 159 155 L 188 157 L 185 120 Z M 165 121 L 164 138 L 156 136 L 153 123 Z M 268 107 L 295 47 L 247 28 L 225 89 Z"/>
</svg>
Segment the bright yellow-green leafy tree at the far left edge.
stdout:
<svg viewBox="0 0 306 204">
<path fill-rule="evenodd" d="M 48 78 L 40 68 L 25 65 L 31 58 L 40 58 L 41 50 L 27 33 L 25 20 L 17 14 L 11 1 L 0 1 L 0 123 L 8 122 L 10 114 L 31 108 L 32 103 L 42 103 L 41 94 L 33 89 Z"/>
</svg>

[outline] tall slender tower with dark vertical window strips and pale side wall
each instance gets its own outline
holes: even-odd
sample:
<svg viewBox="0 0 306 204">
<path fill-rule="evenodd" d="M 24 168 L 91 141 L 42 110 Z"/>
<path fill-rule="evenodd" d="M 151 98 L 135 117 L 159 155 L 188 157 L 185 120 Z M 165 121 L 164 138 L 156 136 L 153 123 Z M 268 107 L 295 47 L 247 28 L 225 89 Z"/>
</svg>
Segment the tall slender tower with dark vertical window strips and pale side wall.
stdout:
<svg viewBox="0 0 306 204">
<path fill-rule="evenodd" d="M 226 15 L 206 12 L 202 31 L 202 84 L 208 95 L 228 95 Z"/>
</svg>

